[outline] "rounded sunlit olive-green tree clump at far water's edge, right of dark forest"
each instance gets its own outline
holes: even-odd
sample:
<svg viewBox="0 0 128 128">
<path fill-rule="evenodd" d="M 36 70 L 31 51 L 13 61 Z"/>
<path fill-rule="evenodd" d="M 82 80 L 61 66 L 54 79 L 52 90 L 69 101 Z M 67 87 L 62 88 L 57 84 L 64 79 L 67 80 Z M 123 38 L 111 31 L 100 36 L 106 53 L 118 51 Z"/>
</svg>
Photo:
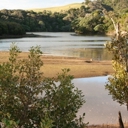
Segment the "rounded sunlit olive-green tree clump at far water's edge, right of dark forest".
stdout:
<svg viewBox="0 0 128 128">
<path fill-rule="evenodd" d="M 97 34 L 105 33 L 103 24 L 104 17 L 101 11 L 95 10 L 85 17 L 79 17 L 72 22 L 72 27 L 77 33 L 82 34 Z M 103 28 L 102 28 L 103 27 Z M 101 30 L 100 30 L 101 28 Z"/>
</svg>

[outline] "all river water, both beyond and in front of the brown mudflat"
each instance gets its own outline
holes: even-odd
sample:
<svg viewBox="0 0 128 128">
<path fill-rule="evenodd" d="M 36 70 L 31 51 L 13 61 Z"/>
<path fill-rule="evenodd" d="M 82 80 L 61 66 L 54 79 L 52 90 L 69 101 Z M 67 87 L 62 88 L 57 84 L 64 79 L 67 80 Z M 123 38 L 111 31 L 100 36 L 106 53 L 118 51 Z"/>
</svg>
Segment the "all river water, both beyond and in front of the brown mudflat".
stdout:
<svg viewBox="0 0 128 128">
<path fill-rule="evenodd" d="M 108 36 L 76 36 L 74 33 L 34 33 L 50 37 L 27 37 L 15 39 L 0 39 L 0 51 L 8 51 L 15 42 L 22 51 L 28 51 L 32 46 L 39 45 L 44 54 L 56 56 L 84 57 L 98 60 L 110 60 L 111 54 L 104 44 L 111 40 Z M 99 67 L 100 68 L 100 67 Z M 74 79 L 76 87 L 83 91 L 86 103 L 79 114 L 86 113 L 85 122 L 89 124 L 113 124 L 118 122 L 118 111 L 122 112 L 124 121 L 128 120 L 125 106 L 120 106 L 112 100 L 105 90 L 107 77 L 91 77 Z"/>
</svg>

